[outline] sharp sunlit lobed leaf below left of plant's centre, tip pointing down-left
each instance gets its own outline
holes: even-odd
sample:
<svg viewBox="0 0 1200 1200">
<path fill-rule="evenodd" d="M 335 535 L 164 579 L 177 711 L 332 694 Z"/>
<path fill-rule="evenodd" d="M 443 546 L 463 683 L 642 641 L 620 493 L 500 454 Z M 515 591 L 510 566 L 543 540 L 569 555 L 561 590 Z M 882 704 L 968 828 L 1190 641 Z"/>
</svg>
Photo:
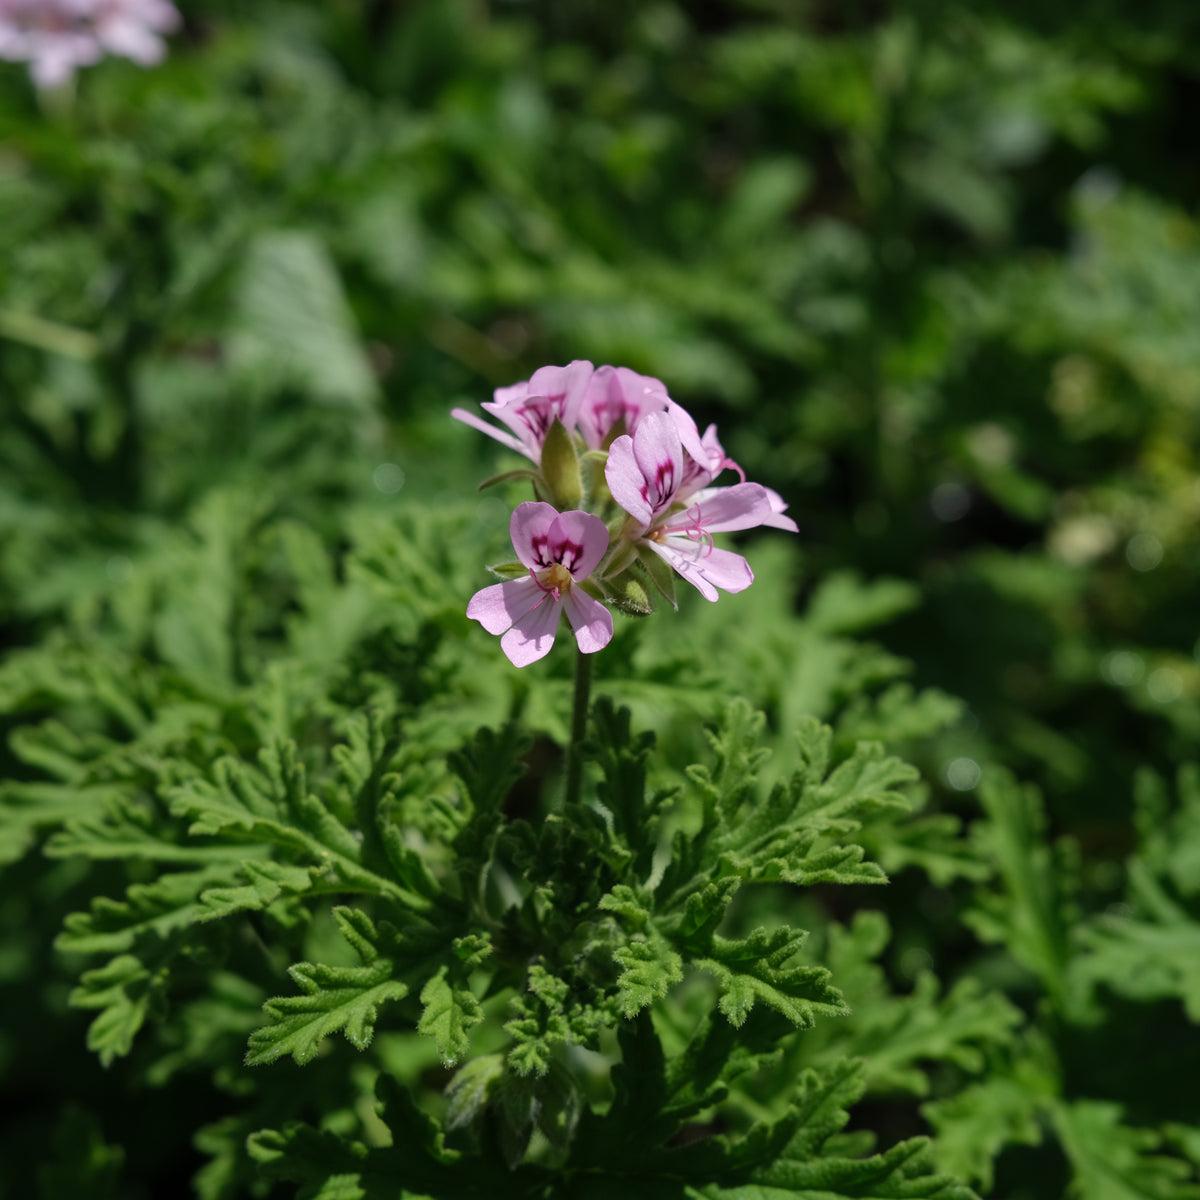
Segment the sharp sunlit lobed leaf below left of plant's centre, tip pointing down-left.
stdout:
<svg viewBox="0 0 1200 1200">
<path fill-rule="evenodd" d="M 247 1066 L 275 1062 L 286 1054 L 302 1066 L 314 1057 L 325 1037 L 338 1031 L 362 1050 L 374 1034 L 379 1007 L 408 995 L 408 985 L 396 978 L 392 959 L 379 953 L 382 937 L 366 913 L 335 908 L 334 917 L 362 966 L 298 962 L 290 967 L 288 973 L 304 995 L 280 996 L 263 1006 L 271 1024 L 251 1034 Z"/>
</svg>

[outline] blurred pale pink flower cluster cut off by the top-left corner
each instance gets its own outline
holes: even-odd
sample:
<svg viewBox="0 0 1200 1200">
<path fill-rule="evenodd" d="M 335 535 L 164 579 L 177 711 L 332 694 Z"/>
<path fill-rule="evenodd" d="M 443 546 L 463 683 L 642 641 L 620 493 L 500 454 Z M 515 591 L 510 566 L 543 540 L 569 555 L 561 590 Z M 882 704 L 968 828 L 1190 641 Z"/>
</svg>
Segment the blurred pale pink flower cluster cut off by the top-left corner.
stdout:
<svg viewBox="0 0 1200 1200">
<path fill-rule="evenodd" d="M 0 0 L 0 59 L 29 62 L 38 88 L 56 88 L 106 54 L 157 62 L 160 35 L 178 25 L 169 0 Z"/>
</svg>

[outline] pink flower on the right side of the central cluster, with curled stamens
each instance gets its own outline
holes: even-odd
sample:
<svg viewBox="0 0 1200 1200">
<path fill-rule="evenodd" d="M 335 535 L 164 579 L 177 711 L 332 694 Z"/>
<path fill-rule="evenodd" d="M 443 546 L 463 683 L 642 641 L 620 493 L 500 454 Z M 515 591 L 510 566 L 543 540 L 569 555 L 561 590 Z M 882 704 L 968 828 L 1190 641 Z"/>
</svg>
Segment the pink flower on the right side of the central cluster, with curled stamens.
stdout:
<svg viewBox="0 0 1200 1200">
<path fill-rule="evenodd" d="M 695 425 L 683 433 L 689 442 L 695 434 L 698 446 L 692 451 L 685 449 L 676 413 L 650 413 L 632 436 L 613 442 L 605 478 L 612 498 L 640 527 L 637 540 L 706 600 L 715 600 L 718 588 L 724 592 L 748 588 L 754 572 L 740 554 L 715 546 L 714 533 L 762 524 L 794 529 L 796 524 L 782 517 L 778 506 L 782 500 L 760 484 L 704 488 L 727 460 L 716 445 L 715 433 L 708 446 Z M 710 448 L 719 455 L 709 452 Z"/>
</svg>

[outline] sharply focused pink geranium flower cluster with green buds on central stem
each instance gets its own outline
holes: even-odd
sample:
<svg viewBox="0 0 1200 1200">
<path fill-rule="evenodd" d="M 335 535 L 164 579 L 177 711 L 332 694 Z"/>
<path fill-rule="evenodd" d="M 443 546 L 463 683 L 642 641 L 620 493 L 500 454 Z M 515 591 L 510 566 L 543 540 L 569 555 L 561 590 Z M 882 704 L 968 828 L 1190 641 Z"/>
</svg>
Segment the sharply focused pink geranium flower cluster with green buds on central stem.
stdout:
<svg viewBox="0 0 1200 1200">
<path fill-rule="evenodd" d="M 714 534 L 796 532 L 782 499 L 746 482 L 726 456 L 716 427 L 701 434 L 649 376 L 583 361 L 542 367 L 481 407 L 497 424 L 462 408 L 451 415 L 534 464 L 503 476 L 527 476 L 538 497 L 512 514 L 518 562 L 496 569 L 511 577 L 467 606 L 468 617 L 502 635 L 518 667 L 550 652 L 563 612 L 580 650 L 592 654 L 612 638 L 606 605 L 649 612 L 646 583 L 674 605 L 671 571 L 706 600 L 748 588 L 750 564 L 716 546 Z M 739 482 L 714 487 L 726 469 Z"/>
</svg>

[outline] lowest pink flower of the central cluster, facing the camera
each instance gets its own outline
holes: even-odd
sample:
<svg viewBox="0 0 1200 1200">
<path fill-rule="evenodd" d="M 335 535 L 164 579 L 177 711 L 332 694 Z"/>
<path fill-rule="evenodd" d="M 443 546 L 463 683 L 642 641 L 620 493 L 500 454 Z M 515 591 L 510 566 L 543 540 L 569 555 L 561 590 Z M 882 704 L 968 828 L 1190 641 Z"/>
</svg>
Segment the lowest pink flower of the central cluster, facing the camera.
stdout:
<svg viewBox="0 0 1200 1200">
<path fill-rule="evenodd" d="M 476 592 L 467 616 L 503 635 L 500 648 L 517 667 L 550 653 L 563 612 L 581 653 L 604 649 L 612 640 L 612 613 L 578 584 L 608 550 L 605 523 L 589 512 L 557 512 L 553 505 L 527 500 L 514 511 L 509 532 L 529 575 Z"/>
</svg>

